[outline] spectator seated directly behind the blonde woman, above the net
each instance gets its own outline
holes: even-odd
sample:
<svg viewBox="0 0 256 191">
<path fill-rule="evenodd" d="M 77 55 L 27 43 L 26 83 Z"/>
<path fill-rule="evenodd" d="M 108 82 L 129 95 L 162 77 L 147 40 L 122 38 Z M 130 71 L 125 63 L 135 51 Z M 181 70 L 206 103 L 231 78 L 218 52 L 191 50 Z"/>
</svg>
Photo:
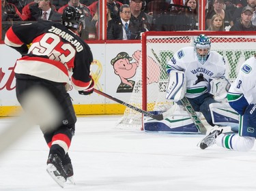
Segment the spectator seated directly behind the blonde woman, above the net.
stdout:
<svg viewBox="0 0 256 191">
<path fill-rule="evenodd" d="M 226 12 L 224 10 L 224 7 L 225 7 L 224 0 L 214 0 L 212 2 L 213 2 L 212 7 L 210 7 L 208 15 L 206 15 L 206 27 L 211 26 L 212 16 L 214 16 L 214 14 L 221 15 L 221 17 L 224 20 L 224 27 L 232 27 L 233 21 L 232 21 L 231 15 L 229 12 Z"/>
</svg>

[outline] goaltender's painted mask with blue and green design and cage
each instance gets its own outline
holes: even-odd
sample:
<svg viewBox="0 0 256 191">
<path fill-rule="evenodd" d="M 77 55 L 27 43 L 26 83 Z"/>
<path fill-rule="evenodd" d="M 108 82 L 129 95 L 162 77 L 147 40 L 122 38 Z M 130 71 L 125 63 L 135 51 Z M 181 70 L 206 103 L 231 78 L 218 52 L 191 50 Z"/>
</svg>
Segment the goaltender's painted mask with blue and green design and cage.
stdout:
<svg viewBox="0 0 256 191">
<path fill-rule="evenodd" d="M 210 54 L 210 48 L 211 48 L 210 38 L 205 35 L 199 35 L 194 40 L 194 46 L 195 46 L 195 53 L 197 54 L 199 63 L 203 65 L 205 61 L 208 59 L 208 56 Z"/>
</svg>

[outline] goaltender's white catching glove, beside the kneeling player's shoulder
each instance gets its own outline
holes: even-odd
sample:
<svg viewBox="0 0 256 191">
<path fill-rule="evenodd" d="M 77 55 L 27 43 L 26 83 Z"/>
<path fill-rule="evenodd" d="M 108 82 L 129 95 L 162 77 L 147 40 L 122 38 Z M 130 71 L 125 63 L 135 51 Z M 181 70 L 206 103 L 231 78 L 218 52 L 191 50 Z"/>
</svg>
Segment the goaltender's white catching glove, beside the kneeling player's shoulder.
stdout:
<svg viewBox="0 0 256 191">
<path fill-rule="evenodd" d="M 214 95 L 216 101 L 221 101 L 227 97 L 230 83 L 225 77 L 211 77 L 209 79 L 208 93 Z"/>
</svg>

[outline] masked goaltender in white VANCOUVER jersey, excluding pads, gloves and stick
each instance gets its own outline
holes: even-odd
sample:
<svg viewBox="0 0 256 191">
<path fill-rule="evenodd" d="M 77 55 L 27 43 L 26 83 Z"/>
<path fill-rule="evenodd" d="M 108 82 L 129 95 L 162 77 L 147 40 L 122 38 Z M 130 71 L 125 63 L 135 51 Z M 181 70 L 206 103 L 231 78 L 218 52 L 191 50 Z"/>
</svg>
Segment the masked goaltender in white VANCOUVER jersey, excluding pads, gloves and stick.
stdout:
<svg viewBox="0 0 256 191">
<path fill-rule="evenodd" d="M 208 93 L 208 87 L 211 79 L 224 77 L 225 59 L 210 48 L 210 38 L 199 35 L 194 41 L 194 47 L 182 48 L 175 52 L 167 65 L 167 72 L 184 72 L 184 95 L 195 111 L 200 111 L 208 124 L 214 126 L 209 105 L 216 101 L 213 95 Z"/>
</svg>

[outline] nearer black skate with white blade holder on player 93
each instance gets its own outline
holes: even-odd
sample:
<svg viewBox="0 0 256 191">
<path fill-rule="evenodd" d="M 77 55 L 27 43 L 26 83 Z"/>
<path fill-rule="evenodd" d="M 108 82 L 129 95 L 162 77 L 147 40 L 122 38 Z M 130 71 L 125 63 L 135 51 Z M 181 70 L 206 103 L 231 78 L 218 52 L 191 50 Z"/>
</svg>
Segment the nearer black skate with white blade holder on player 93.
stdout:
<svg viewBox="0 0 256 191">
<path fill-rule="evenodd" d="M 51 175 L 51 177 L 61 186 L 64 187 L 64 183 L 67 180 L 67 173 L 63 168 L 62 161 L 57 156 L 57 154 L 50 154 L 47 160 L 47 169 L 46 171 Z"/>
</svg>

